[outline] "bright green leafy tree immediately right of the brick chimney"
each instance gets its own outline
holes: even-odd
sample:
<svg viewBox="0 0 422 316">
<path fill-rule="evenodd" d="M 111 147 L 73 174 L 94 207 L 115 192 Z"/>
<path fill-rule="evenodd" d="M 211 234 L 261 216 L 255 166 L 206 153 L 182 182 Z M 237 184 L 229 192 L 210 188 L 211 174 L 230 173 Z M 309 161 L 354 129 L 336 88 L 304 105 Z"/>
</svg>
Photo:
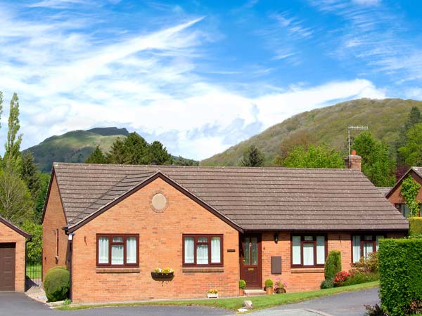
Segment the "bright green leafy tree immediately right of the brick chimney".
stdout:
<svg viewBox="0 0 422 316">
<path fill-rule="evenodd" d="M 374 185 L 388 187 L 395 183 L 395 160 L 387 143 L 364 131 L 354 138 L 353 149 L 362 157 L 362 172 Z"/>
</svg>

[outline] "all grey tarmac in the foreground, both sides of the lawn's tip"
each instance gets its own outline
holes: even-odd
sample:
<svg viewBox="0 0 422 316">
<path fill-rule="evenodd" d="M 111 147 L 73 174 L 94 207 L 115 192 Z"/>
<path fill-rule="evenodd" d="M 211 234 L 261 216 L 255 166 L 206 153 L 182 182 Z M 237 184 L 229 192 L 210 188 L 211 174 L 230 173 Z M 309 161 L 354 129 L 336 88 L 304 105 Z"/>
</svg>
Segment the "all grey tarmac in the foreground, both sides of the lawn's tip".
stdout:
<svg viewBox="0 0 422 316">
<path fill-rule="evenodd" d="M 309 310 L 319 310 L 333 316 L 363 316 L 364 304 L 378 303 L 378 289 L 350 292 L 316 298 L 302 303 L 257 310 L 248 316 L 316 316 Z M 134 306 L 122 308 L 92 308 L 89 310 L 51 310 L 43 303 L 32 301 L 25 294 L 0 292 L 0 316 L 226 316 L 234 312 L 218 308 L 194 306 Z"/>
</svg>

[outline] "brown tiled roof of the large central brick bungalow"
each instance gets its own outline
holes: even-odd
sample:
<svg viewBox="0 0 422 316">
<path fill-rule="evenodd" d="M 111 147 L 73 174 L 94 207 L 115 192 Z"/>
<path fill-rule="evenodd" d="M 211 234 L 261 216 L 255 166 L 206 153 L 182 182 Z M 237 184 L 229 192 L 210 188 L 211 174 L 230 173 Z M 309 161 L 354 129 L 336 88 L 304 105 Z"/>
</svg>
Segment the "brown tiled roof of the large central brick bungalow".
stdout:
<svg viewBox="0 0 422 316">
<path fill-rule="evenodd" d="M 160 171 L 243 230 L 407 230 L 352 169 L 53 165 L 70 225 Z"/>
</svg>

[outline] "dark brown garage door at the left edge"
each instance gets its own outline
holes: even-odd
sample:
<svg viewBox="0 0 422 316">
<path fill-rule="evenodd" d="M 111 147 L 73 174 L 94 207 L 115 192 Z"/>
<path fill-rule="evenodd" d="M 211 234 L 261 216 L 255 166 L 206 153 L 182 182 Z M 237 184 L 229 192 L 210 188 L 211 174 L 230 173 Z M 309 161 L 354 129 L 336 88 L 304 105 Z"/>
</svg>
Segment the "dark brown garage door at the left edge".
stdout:
<svg viewBox="0 0 422 316">
<path fill-rule="evenodd" d="M 15 291 L 15 244 L 0 244 L 0 291 Z"/>
</svg>

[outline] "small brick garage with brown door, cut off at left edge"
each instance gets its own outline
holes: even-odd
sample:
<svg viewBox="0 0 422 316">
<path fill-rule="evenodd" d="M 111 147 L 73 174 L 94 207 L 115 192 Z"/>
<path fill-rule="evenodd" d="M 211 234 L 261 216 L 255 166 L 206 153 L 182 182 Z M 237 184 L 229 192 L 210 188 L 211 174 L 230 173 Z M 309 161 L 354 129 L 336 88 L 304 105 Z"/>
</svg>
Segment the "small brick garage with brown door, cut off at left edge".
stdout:
<svg viewBox="0 0 422 316">
<path fill-rule="evenodd" d="M 26 242 L 31 235 L 0 217 L 0 291 L 25 291 Z"/>
</svg>

